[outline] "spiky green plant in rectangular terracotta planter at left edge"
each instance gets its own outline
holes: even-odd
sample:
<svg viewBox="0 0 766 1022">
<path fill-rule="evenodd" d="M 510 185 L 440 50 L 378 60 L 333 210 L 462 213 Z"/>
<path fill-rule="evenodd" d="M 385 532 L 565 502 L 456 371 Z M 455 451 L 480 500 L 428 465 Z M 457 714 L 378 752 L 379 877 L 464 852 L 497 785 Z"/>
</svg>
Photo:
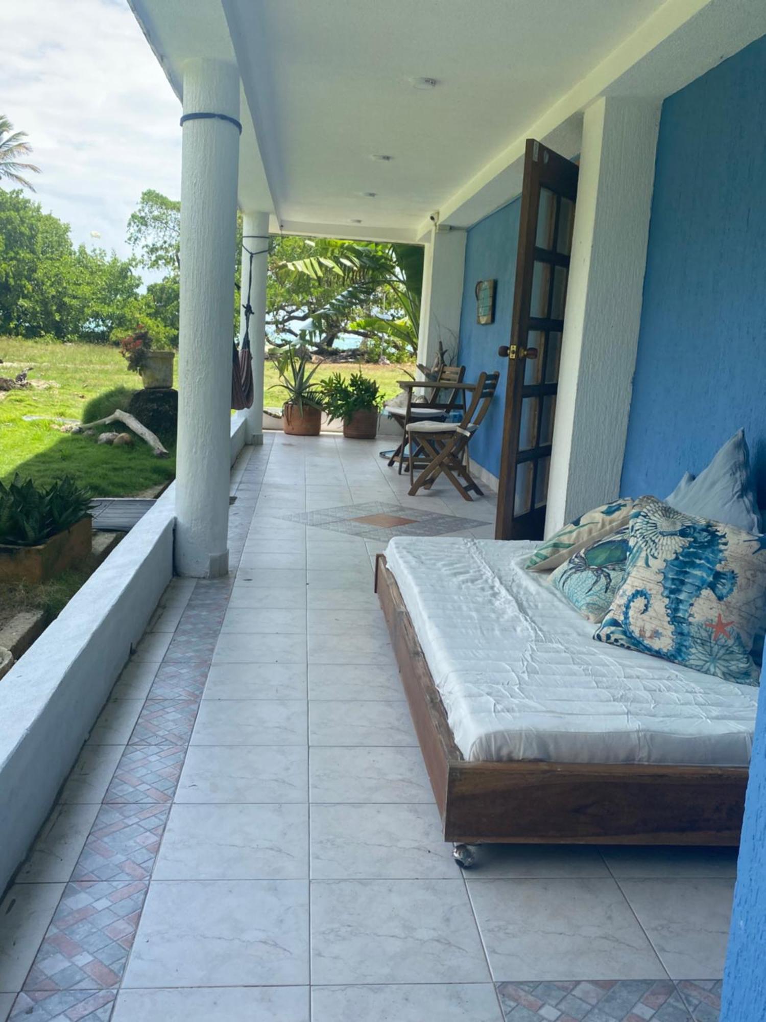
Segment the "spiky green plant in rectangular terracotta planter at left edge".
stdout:
<svg viewBox="0 0 766 1022">
<path fill-rule="evenodd" d="M 91 552 L 90 495 L 65 475 L 38 487 L 16 475 L 0 482 L 0 583 L 38 583 Z"/>
</svg>

